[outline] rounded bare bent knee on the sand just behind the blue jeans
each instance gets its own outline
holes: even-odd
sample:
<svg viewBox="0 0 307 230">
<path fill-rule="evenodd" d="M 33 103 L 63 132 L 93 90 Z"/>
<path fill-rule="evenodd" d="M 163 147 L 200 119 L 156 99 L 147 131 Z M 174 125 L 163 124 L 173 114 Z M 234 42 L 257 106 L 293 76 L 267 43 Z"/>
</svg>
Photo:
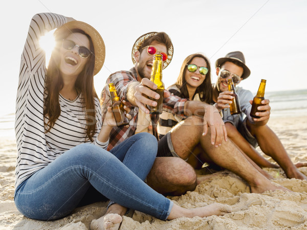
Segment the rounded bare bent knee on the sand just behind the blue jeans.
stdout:
<svg viewBox="0 0 307 230">
<path fill-rule="evenodd" d="M 147 185 L 163 195 L 180 196 L 196 188 L 196 173 L 179 157 L 157 157 Z"/>
</svg>

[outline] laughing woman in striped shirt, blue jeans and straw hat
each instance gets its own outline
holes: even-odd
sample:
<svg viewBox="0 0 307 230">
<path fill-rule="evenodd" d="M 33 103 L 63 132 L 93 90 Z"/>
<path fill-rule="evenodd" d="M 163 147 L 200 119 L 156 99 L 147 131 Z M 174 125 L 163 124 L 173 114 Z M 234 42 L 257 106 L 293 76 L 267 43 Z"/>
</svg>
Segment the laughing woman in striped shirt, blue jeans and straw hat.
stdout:
<svg viewBox="0 0 307 230">
<path fill-rule="evenodd" d="M 55 28 L 46 69 L 39 39 Z M 104 54 L 103 40 L 90 25 L 53 13 L 32 18 L 16 98 L 17 209 L 29 218 L 54 220 L 107 197 L 118 203 L 113 213 L 122 215 L 124 207 L 163 220 L 229 212 L 221 204 L 186 210 L 148 187 L 143 180 L 157 153 L 157 141 L 148 133 L 131 136 L 111 153 L 105 150 L 115 121 L 108 108 L 102 124 L 93 83 Z M 112 206 L 93 227 L 119 226 L 122 217 L 112 214 Z"/>
</svg>

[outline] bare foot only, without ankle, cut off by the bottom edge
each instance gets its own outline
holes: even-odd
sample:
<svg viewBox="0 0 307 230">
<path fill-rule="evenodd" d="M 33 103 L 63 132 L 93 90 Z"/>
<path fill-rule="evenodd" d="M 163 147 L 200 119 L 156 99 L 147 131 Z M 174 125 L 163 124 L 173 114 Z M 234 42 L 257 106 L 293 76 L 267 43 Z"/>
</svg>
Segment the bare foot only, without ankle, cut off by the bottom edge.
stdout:
<svg viewBox="0 0 307 230">
<path fill-rule="evenodd" d="M 123 221 L 123 218 L 121 215 L 115 214 L 115 213 L 109 213 L 102 217 L 100 217 L 98 220 L 92 220 L 91 222 L 91 229 L 97 229 L 97 230 L 103 230 L 103 229 L 110 229 L 110 230 L 117 230 L 119 229 L 119 226 L 121 222 Z"/>
</svg>

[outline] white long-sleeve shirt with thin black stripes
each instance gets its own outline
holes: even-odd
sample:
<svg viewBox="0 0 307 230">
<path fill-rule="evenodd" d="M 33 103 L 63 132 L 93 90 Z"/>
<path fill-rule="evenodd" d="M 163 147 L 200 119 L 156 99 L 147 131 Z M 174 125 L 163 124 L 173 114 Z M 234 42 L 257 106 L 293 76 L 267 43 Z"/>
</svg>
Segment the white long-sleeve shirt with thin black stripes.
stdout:
<svg viewBox="0 0 307 230">
<path fill-rule="evenodd" d="M 57 156 L 86 139 L 86 124 L 82 95 L 74 101 L 59 95 L 61 113 L 50 132 L 46 132 L 43 119 L 46 58 L 39 39 L 47 32 L 67 22 L 62 15 L 40 13 L 33 16 L 26 44 L 21 54 L 16 97 L 15 134 L 17 143 L 15 188 L 36 171 L 46 167 Z M 95 144 L 106 148 L 108 142 L 96 140 L 102 119 L 98 98 L 95 99 Z"/>
</svg>

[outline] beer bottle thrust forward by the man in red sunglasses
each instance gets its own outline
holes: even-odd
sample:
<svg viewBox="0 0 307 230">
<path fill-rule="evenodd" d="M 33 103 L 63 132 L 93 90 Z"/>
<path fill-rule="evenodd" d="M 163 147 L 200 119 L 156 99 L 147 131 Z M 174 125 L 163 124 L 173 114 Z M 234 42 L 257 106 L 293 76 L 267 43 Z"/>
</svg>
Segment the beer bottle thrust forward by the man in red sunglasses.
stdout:
<svg viewBox="0 0 307 230">
<path fill-rule="evenodd" d="M 158 86 L 158 88 L 153 91 L 159 94 L 160 98 L 155 99 L 155 98 L 149 97 L 150 100 L 157 102 L 157 106 L 153 107 L 153 106 L 147 105 L 147 108 L 149 109 L 150 114 L 161 114 L 162 107 L 163 107 L 163 93 L 164 93 L 164 83 L 162 82 L 162 55 L 161 54 L 155 54 L 155 56 L 153 56 L 150 81 L 152 81 Z"/>
</svg>

